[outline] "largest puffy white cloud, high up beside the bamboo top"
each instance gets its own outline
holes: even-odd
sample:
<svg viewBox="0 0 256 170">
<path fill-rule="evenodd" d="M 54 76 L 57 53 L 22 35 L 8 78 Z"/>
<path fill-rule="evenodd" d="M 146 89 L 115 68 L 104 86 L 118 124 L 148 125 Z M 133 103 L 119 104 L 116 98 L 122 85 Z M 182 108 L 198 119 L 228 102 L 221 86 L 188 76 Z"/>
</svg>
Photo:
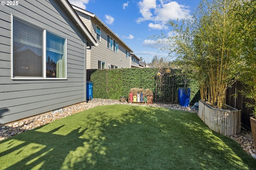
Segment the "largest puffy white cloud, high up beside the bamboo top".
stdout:
<svg viewBox="0 0 256 170">
<path fill-rule="evenodd" d="M 178 4 L 171 0 L 142 0 L 138 2 L 142 17 L 136 20 L 137 23 L 143 21 L 154 21 L 148 26 L 152 29 L 166 29 L 168 20 L 177 20 L 189 16 L 189 6 Z"/>
</svg>

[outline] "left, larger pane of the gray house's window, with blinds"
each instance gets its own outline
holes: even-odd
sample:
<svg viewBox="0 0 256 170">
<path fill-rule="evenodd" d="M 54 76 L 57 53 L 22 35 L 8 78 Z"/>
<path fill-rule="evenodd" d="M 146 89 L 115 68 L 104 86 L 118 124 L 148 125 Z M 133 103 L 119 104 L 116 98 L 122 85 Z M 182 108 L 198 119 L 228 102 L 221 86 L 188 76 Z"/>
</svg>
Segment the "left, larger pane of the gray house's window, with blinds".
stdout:
<svg viewBox="0 0 256 170">
<path fill-rule="evenodd" d="M 14 77 L 43 77 L 43 31 L 14 18 Z"/>
</svg>

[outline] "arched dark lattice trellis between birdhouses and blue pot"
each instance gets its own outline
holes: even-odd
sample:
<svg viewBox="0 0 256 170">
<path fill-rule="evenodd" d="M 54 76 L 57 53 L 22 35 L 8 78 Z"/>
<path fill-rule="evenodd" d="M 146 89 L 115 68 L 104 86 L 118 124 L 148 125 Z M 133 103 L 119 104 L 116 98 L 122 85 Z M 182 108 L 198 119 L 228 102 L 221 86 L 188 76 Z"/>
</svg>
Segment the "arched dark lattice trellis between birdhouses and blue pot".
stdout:
<svg viewBox="0 0 256 170">
<path fill-rule="evenodd" d="M 155 102 L 174 103 L 176 88 L 174 70 L 166 66 L 159 68 L 156 78 Z"/>
</svg>

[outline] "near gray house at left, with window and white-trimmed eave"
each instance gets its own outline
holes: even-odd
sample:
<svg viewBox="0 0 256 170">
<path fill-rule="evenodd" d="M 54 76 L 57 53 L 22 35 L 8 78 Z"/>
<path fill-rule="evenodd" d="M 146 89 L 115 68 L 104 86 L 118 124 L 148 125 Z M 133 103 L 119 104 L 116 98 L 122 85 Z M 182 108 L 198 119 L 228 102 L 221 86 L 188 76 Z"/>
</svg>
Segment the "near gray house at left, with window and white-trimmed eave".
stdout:
<svg viewBox="0 0 256 170">
<path fill-rule="evenodd" d="M 67 0 L 19 0 L 0 19 L 0 124 L 86 101 L 98 44 Z"/>
</svg>

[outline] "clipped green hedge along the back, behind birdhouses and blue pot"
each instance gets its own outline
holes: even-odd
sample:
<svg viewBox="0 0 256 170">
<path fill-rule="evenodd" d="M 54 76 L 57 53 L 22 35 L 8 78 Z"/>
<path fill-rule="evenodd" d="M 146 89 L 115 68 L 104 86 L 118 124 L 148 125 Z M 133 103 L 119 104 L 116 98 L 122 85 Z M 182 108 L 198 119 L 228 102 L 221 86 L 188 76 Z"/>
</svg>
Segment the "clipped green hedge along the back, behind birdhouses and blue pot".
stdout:
<svg viewBox="0 0 256 170">
<path fill-rule="evenodd" d="M 93 82 L 93 98 L 120 99 L 120 96 L 128 96 L 131 88 L 149 88 L 153 94 L 156 91 L 156 76 L 158 68 L 118 68 L 100 69 L 92 72 L 90 76 Z M 176 76 L 177 77 L 177 76 Z M 180 78 L 176 79 L 176 86 L 180 86 Z M 198 99 L 198 84 L 190 80 L 190 101 Z M 193 102 L 193 103 L 192 103 Z"/>
</svg>

